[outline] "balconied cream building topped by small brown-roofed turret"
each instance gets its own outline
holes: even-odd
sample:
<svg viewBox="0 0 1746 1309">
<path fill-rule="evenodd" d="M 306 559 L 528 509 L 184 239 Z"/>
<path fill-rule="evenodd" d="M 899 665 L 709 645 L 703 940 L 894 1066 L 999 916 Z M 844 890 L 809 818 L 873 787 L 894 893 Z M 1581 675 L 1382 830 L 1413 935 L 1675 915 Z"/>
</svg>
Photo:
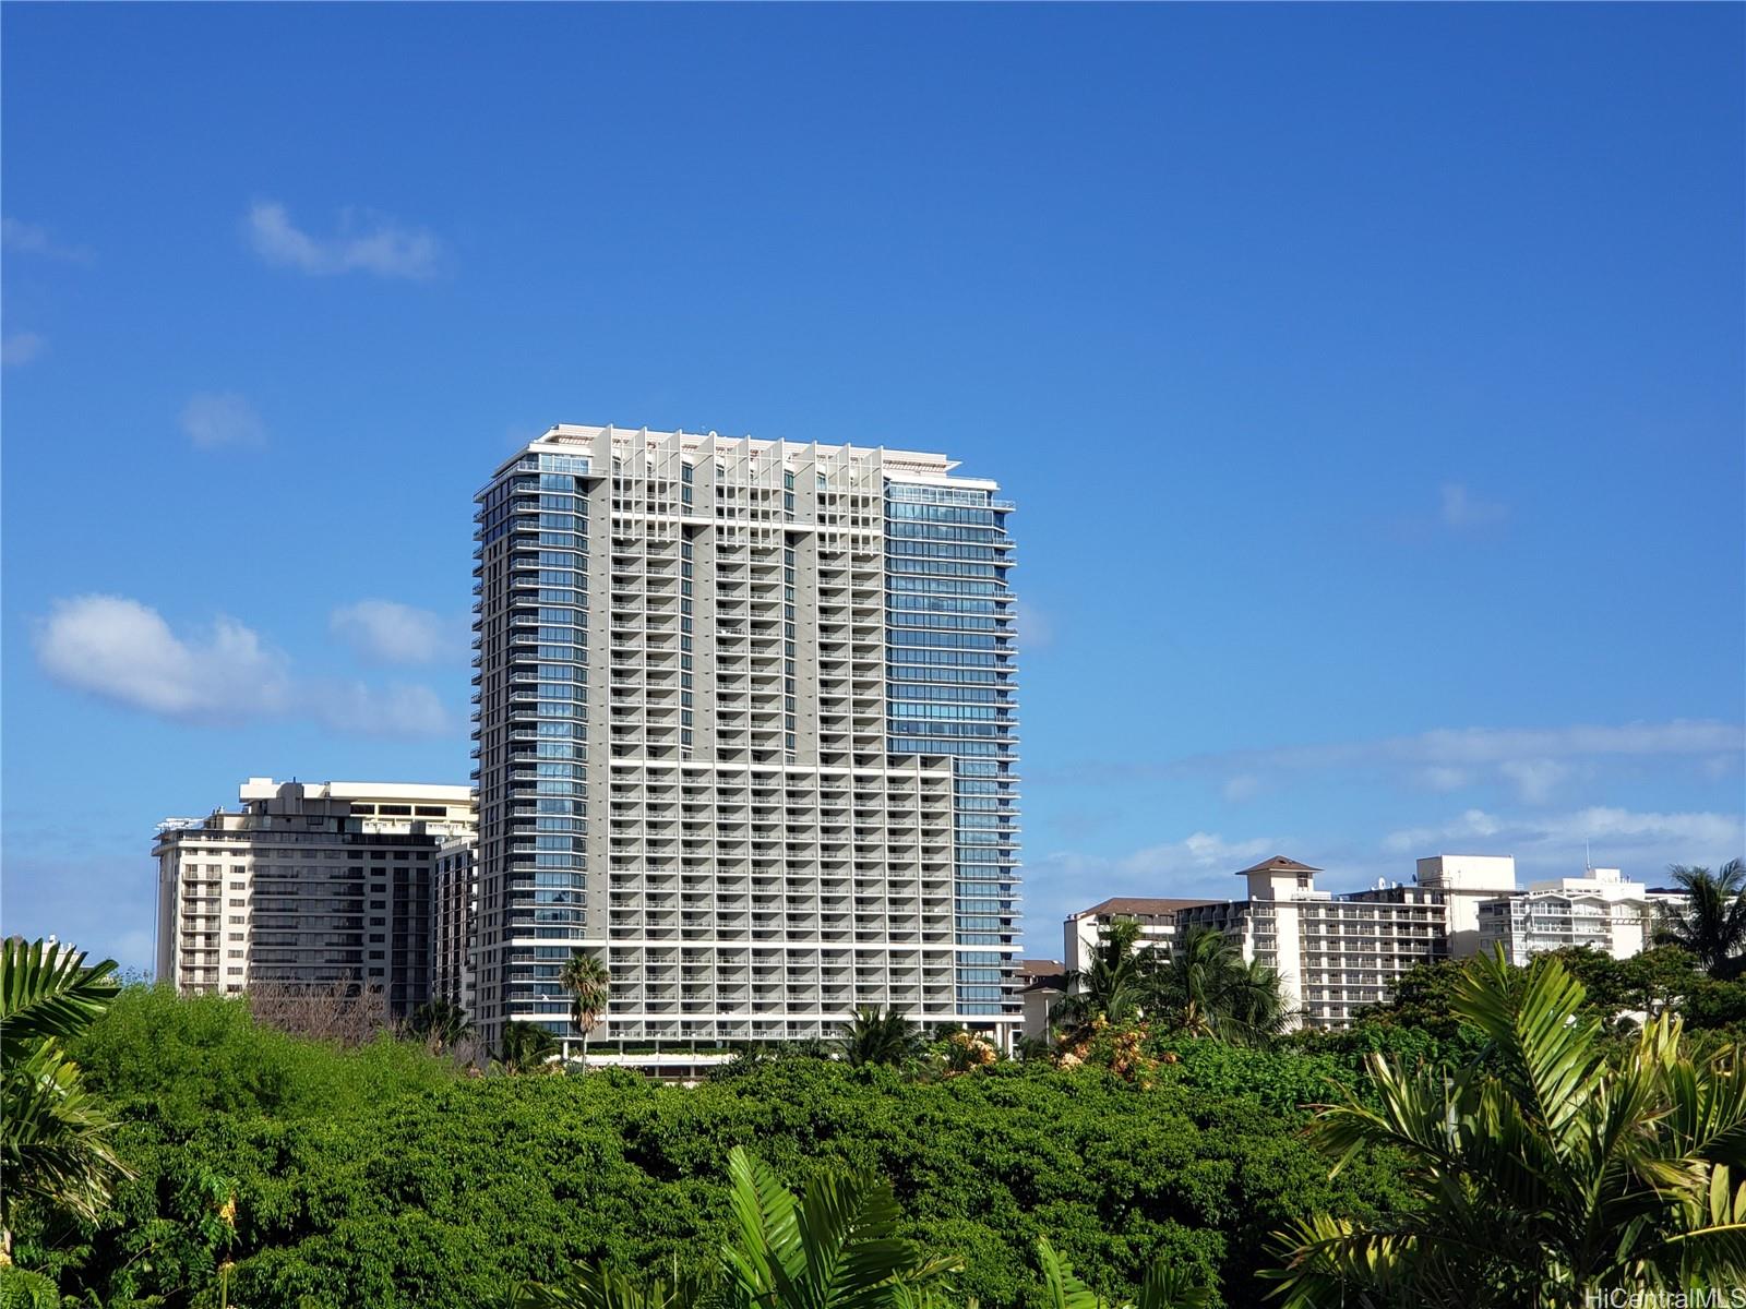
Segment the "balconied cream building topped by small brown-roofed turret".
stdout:
<svg viewBox="0 0 1746 1309">
<path fill-rule="evenodd" d="M 1332 895 L 1296 859 L 1275 855 L 1238 876 L 1248 899 L 1177 913 L 1177 932 L 1213 927 L 1280 976 L 1285 1009 L 1315 1026 L 1348 1026 L 1358 1009 L 1381 1004 L 1416 963 L 1449 953 L 1440 890 L 1383 885 Z"/>
</svg>

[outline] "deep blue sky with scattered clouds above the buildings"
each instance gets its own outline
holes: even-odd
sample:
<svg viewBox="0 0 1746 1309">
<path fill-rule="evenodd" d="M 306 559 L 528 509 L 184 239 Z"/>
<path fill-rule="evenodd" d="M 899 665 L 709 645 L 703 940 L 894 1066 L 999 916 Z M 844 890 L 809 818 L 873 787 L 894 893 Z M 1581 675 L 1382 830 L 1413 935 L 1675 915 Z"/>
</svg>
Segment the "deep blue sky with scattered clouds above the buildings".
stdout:
<svg viewBox="0 0 1746 1309">
<path fill-rule="evenodd" d="M 1109 894 L 1746 846 L 1730 5 L 7 5 L 3 901 L 464 780 L 550 422 L 1018 501 L 1028 944 Z"/>
</svg>

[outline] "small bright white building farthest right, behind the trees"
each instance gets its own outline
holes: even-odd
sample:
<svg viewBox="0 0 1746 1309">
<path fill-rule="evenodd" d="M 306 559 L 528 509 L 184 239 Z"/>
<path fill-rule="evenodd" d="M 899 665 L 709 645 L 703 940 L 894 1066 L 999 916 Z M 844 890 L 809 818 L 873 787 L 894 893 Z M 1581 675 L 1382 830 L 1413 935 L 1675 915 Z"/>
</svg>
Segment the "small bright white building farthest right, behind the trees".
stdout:
<svg viewBox="0 0 1746 1309">
<path fill-rule="evenodd" d="M 1580 878 L 1535 881 L 1526 894 L 1479 906 L 1486 948 L 1502 944 L 1510 963 L 1526 965 L 1549 949 L 1587 946 L 1631 958 L 1653 944 L 1655 899 L 1617 867 L 1591 867 Z"/>
</svg>

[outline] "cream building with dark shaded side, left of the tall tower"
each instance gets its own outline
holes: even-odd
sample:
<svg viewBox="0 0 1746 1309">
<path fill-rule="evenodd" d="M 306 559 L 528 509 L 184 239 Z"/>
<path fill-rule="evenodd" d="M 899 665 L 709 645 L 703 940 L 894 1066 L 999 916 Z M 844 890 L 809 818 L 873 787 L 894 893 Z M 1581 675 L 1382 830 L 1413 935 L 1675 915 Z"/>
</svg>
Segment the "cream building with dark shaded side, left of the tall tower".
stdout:
<svg viewBox="0 0 1746 1309">
<path fill-rule="evenodd" d="M 473 829 L 471 791 L 251 777 L 241 801 L 159 824 L 157 977 L 381 988 L 402 1016 L 430 998 L 431 862 Z"/>
</svg>

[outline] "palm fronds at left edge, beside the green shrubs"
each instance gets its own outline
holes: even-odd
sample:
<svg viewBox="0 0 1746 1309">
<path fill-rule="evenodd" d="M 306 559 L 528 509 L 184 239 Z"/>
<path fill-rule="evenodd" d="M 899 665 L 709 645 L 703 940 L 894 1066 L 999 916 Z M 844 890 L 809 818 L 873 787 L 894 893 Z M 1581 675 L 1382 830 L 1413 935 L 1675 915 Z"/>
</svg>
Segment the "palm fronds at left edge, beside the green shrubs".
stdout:
<svg viewBox="0 0 1746 1309">
<path fill-rule="evenodd" d="M 19 1206 L 96 1218 L 131 1171 L 110 1145 L 113 1124 L 63 1042 L 108 1009 L 115 962 L 9 937 L 0 944 L 0 1253 L 10 1257 Z"/>
</svg>

